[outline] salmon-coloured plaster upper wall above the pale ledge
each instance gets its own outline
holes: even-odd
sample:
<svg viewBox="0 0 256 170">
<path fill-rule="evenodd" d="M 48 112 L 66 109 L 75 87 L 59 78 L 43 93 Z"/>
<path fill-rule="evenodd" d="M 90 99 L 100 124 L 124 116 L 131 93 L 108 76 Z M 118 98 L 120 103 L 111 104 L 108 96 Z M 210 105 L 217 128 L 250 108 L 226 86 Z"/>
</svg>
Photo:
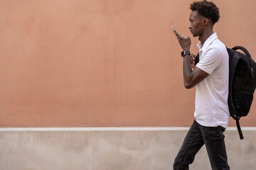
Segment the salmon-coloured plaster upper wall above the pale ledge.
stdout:
<svg viewBox="0 0 256 170">
<path fill-rule="evenodd" d="M 191 125 L 171 30 L 190 35 L 191 2 L 1 0 L 0 127 Z M 256 60 L 256 1 L 214 2 L 220 40 Z M 255 102 L 242 126 L 256 126 Z"/>
</svg>

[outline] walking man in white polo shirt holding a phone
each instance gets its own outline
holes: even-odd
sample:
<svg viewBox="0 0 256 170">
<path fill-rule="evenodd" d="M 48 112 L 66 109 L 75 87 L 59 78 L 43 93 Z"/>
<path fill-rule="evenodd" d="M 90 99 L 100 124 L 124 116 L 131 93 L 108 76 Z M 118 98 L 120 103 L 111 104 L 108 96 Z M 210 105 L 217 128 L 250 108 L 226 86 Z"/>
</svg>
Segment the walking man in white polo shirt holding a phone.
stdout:
<svg viewBox="0 0 256 170">
<path fill-rule="evenodd" d="M 174 169 L 188 169 L 196 153 L 206 145 L 212 169 L 230 169 L 223 132 L 228 126 L 228 52 L 213 33 L 220 18 L 218 7 L 210 1 L 191 4 L 189 30 L 199 37 L 199 62 L 191 55 L 191 39 L 174 30 L 183 48 L 183 81 L 186 89 L 196 86 L 195 118 L 174 161 Z"/>
</svg>

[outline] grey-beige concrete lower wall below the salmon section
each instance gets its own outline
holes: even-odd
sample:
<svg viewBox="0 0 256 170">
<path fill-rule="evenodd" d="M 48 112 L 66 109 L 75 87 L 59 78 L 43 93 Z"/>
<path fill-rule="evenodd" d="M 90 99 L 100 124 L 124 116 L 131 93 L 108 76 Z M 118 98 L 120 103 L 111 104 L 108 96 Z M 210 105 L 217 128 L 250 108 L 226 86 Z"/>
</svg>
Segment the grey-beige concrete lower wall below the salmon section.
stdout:
<svg viewBox="0 0 256 170">
<path fill-rule="evenodd" d="M 172 169 L 187 130 L 0 131 L 2 170 L 166 170 Z M 226 130 L 233 170 L 255 170 L 256 131 Z M 246 163 L 245 163 L 246 162 Z M 210 170 L 206 148 L 191 170 Z"/>
</svg>

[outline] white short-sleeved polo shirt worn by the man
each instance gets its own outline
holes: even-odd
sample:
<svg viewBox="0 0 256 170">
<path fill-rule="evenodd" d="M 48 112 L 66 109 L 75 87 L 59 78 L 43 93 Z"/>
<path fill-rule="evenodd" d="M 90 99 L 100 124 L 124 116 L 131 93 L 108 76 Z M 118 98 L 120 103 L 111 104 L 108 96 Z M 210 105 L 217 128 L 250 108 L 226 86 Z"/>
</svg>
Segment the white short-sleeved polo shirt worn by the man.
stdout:
<svg viewBox="0 0 256 170">
<path fill-rule="evenodd" d="M 202 45 L 198 43 L 199 62 L 196 67 L 209 75 L 196 86 L 195 118 L 203 126 L 226 128 L 228 109 L 228 52 L 216 33 Z"/>
</svg>

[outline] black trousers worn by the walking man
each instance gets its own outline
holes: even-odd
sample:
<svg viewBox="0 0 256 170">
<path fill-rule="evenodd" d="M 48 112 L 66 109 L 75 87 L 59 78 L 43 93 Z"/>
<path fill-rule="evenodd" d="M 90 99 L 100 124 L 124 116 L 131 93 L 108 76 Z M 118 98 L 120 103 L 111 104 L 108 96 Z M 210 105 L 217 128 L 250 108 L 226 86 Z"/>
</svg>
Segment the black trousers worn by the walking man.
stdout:
<svg viewBox="0 0 256 170">
<path fill-rule="evenodd" d="M 206 145 L 210 166 L 213 170 L 230 169 L 225 149 L 224 131 L 225 128 L 222 126 L 206 127 L 199 125 L 194 120 L 174 160 L 174 170 L 189 169 L 188 165 L 193 163 L 196 153 L 203 145 Z"/>
</svg>

